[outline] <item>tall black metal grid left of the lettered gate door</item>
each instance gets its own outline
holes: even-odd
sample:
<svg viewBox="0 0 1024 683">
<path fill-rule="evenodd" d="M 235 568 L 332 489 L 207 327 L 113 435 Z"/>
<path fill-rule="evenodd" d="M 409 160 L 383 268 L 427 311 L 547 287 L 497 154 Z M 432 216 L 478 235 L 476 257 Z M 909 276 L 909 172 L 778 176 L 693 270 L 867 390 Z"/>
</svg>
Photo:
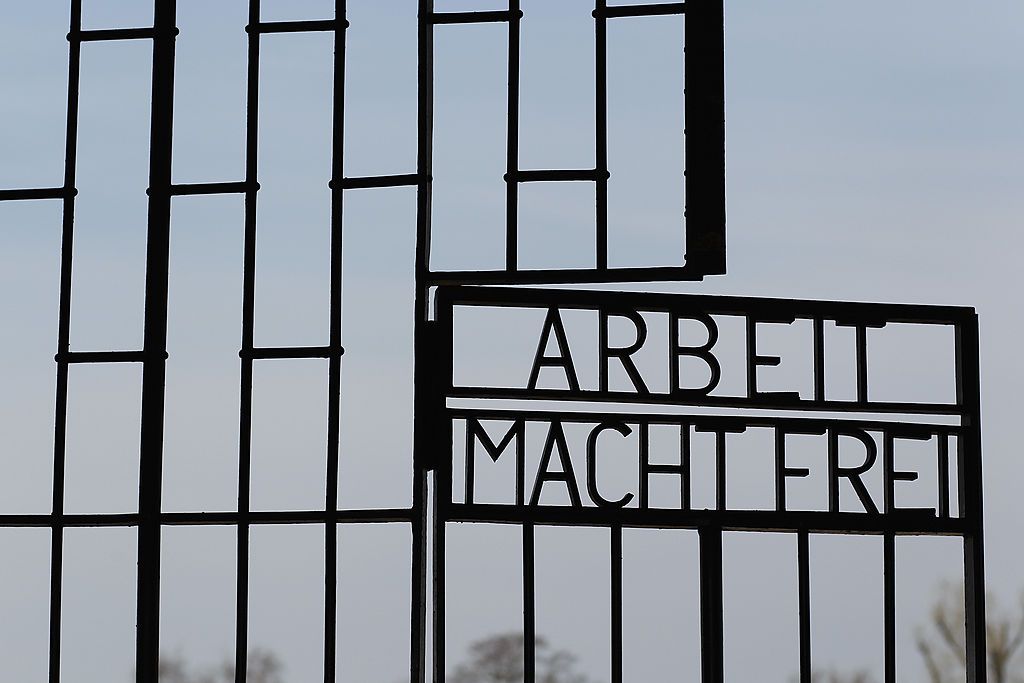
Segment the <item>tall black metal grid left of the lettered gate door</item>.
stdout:
<svg viewBox="0 0 1024 683">
<path fill-rule="evenodd" d="M 61 228 L 60 283 L 56 360 L 56 409 L 53 450 L 53 495 L 50 514 L 0 515 L 0 525 L 37 526 L 51 530 L 49 605 L 49 681 L 58 683 L 60 674 L 61 580 L 63 577 L 63 530 L 69 527 L 135 527 L 138 530 L 136 680 L 156 683 L 160 664 L 161 531 L 170 525 L 215 524 L 237 530 L 236 598 L 236 680 L 246 680 L 249 627 L 249 538 L 253 524 L 322 524 L 326 563 L 324 676 L 336 679 L 338 565 L 337 528 L 349 523 L 400 523 L 414 529 L 414 544 L 422 547 L 425 517 L 422 502 L 409 509 L 338 510 L 338 450 L 341 389 L 341 304 L 342 304 L 342 203 L 344 190 L 419 184 L 429 176 L 413 175 L 345 178 L 343 176 L 345 2 L 337 0 L 336 18 L 328 20 L 262 22 L 259 0 L 249 2 L 245 177 L 232 182 L 172 183 L 172 132 L 174 108 L 174 54 L 176 27 L 175 0 L 155 0 L 154 26 L 83 30 L 83 0 L 71 0 L 68 76 L 67 145 L 65 181 L 60 187 L 33 187 L 0 190 L 0 201 L 59 200 L 63 206 Z M 241 29 L 241 27 L 240 27 Z M 335 39 L 333 82 L 332 189 L 331 203 L 331 285 L 330 341 L 326 346 L 258 347 L 254 343 L 255 270 L 257 240 L 257 121 L 259 112 L 260 38 L 272 33 L 331 32 Z M 153 44 L 151 152 L 148 213 L 146 230 L 145 297 L 143 346 L 140 350 L 73 351 L 70 343 L 72 269 L 75 234 L 76 160 L 78 153 L 79 83 L 82 45 L 86 42 L 148 40 Z M 429 99 L 422 99 L 421 122 L 429 121 Z M 429 132 L 422 127 L 421 140 Z M 422 143 L 421 143 L 421 146 Z M 429 143 L 426 145 L 429 147 Z M 244 274 L 241 358 L 240 453 L 237 512 L 165 512 L 162 508 L 164 449 L 164 402 L 167 352 L 169 233 L 172 198 L 195 195 L 242 195 L 245 199 Z M 421 191 L 421 195 L 425 193 Z M 421 224 L 426 224 L 421 217 Z M 250 463 L 253 405 L 253 367 L 257 360 L 280 358 L 328 359 L 327 476 L 324 507 L 302 511 L 253 511 L 250 509 Z M 69 369 L 76 364 L 131 362 L 142 367 L 141 433 L 138 512 L 126 514 L 68 514 L 65 512 L 65 463 L 68 422 Z M 423 680 L 423 580 L 422 561 L 414 566 L 414 616 L 411 629 L 413 656 L 411 680 Z M 417 592 L 416 587 L 420 587 Z"/>
</svg>

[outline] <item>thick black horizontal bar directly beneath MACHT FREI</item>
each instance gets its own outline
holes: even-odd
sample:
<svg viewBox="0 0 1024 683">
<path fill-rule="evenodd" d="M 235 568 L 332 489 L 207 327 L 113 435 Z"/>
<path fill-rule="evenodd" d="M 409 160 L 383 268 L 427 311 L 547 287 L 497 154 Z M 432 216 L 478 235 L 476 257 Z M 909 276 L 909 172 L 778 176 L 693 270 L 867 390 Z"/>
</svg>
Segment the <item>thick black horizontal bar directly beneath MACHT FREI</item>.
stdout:
<svg viewBox="0 0 1024 683">
<path fill-rule="evenodd" d="M 807 531 L 810 533 L 896 533 L 898 536 L 968 537 L 972 526 L 963 519 L 939 519 L 913 510 L 887 515 L 861 512 L 776 512 L 775 510 L 669 510 L 567 506 L 466 505 L 440 506 L 449 522 L 550 524 L 632 528 L 697 528 L 721 526 L 727 531 Z"/>
</svg>

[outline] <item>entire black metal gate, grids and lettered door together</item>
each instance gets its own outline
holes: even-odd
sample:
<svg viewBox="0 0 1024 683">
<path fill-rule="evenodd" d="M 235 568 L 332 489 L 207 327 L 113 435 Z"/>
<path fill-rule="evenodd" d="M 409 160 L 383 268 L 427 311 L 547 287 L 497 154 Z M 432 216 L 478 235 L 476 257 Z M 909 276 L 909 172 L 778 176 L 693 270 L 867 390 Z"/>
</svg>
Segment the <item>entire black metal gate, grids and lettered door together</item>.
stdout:
<svg viewBox="0 0 1024 683">
<path fill-rule="evenodd" d="M 61 625 L 61 578 L 63 575 L 65 529 L 76 526 L 118 526 L 135 527 L 138 530 L 138 580 L 137 580 L 137 639 L 136 663 L 137 680 L 155 682 L 158 678 L 160 657 L 160 596 L 161 596 L 161 532 L 169 525 L 216 524 L 233 527 L 238 533 L 237 582 L 236 582 L 236 677 L 239 683 L 246 680 L 246 656 L 248 650 L 248 605 L 249 605 L 249 553 L 250 528 L 254 524 L 318 524 L 324 527 L 325 571 L 325 630 L 324 630 L 324 675 L 325 681 L 336 680 L 337 669 L 337 609 L 338 609 L 338 566 L 337 529 L 339 525 L 352 523 L 399 524 L 412 530 L 412 603 L 411 603 L 411 663 L 410 680 L 422 683 L 433 678 L 444 678 L 443 659 L 443 553 L 444 528 L 449 521 L 492 520 L 521 524 L 523 527 L 524 556 L 530 557 L 531 530 L 536 524 L 589 524 L 606 526 L 610 529 L 612 564 L 612 614 L 621 615 L 622 586 L 621 574 L 614 567 L 621 561 L 622 528 L 624 526 L 678 526 L 696 528 L 700 532 L 701 544 L 701 631 L 705 634 L 702 649 L 702 680 L 706 683 L 721 681 L 722 674 L 722 624 L 721 624 L 721 532 L 723 528 L 781 529 L 798 535 L 800 543 L 801 580 L 801 680 L 810 680 L 809 640 L 810 627 L 806 618 L 808 585 L 807 539 L 812 532 L 861 532 L 882 535 L 886 549 L 886 683 L 895 681 L 893 609 L 895 595 L 892 590 L 893 540 L 901 533 L 936 533 L 964 537 L 965 569 L 968 587 L 969 642 L 971 656 L 970 677 L 972 682 L 985 678 L 984 656 L 984 607 L 983 607 L 983 565 L 981 549 L 981 492 L 980 492 L 980 436 L 979 436 L 979 395 L 977 386 L 977 331 L 973 313 L 963 309 L 933 310 L 929 308 L 903 307 L 861 307 L 854 304 L 830 307 L 824 304 L 804 302 L 769 302 L 759 304 L 762 312 L 769 316 L 810 316 L 814 319 L 845 315 L 855 322 L 859 333 L 867 326 L 901 319 L 919 323 L 952 325 L 957 334 L 958 370 L 957 400 L 954 405 L 941 407 L 940 413 L 962 418 L 958 426 L 950 427 L 949 434 L 955 435 L 961 457 L 956 459 L 958 470 L 955 480 L 959 482 L 959 516 L 950 515 L 948 507 L 940 510 L 937 518 L 919 516 L 900 517 L 856 516 L 822 513 L 810 515 L 787 512 L 784 498 L 776 513 L 753 514 L 728 512 L 722 505 L 717 511 L 685 510 L 668 514 L 657 511 L 626 510 L 607 508 L 551 509 L 544 506 L 523 505 L 525 492 L 520 485 L 519 506 L 499 509 L 472 505 L 471 488 L 467 488 L 466 499 L 458 503 L 452 498 L 451 452 L 445 447 L 451 443 L 452 421 L 461 419 L 467 424 L 479 424 L 479 420 L 511 420 L 518 424 L 523 420 L 550 420 L 551 416 L 526 415 L 520 413 L 498 413 L 488 410 L 467 411 L 450 408 L 444 400 L 450 396 L 493 398 L 537 397 L 531 391 L 516 394 L 514 391 L 494 393 L 456 390 L 451 384 L 451 349 L 447 348 L 451 307 L 454 305 L 490 304 L 495 306 L 542 306 L 552 310 L 559 306 L 596 306 L 606 312 L 629 309 L 630 306 L 647 305 L 645 299 L 605 299 L 594 295 L 567 295 L 552 293 L 525 294 L 520 290 L 492 289 L 449 289 L 452 285 L 537 285 L 552 283 L 625 283 L 650 281 L 700 280 L 708 274 L 725 271 L 725 202 L 724 202 L 724 81 L 723 81 L 723 7 L 722 0 L 690 0 L 689 2 L 659 2 L 650 4 L 609 4 L 607 0 L 595 0 L 592 17 L 595 32 L 594 102 L 595 165 L 593 168 L 548 168 L 523 169 L 519 165 L 519 62 L 520 25 L 524 16 L 518 0 L 509 0 L 507 8 L 480 11 L 435 12 L 432 0 L 419 0 L 418 39 L 418 150 L 416 168 L 389 175 L 348 177 L 344 172 L 344 125 L 345 125 L 345 59 L 346 35 L 358 31 L 350 26 L 346 16 L 345 0 L 336 0 L 335 16 L 323 20 L 268 22 L 261 18 L 260 0 L 249 0 L 248 26 L 248 79 L 246 113 L 246 161 L 245 176 L 228 182 L 172 182 L 172 133 L 174 113 L 174 72 L 176 27 L 175 0 L 155 0 L 154 24 L 152 27 L 132 27 L 103 30 L 83 30 L 83 0 L 71 0 L 71 17 L 68 32 L 69 77 L 67 143 L 65 156 L 63 183 L 55 187 L 30 187 L 0 190 L 0 201 L 52 200 L 60 202 L 63 209 L 61 228 L 61 258 L 59 283 L 58 334 L 56 343 L 56 410 L 53 447 L 53 495 L 52 511 L 49 514 L 2 515 L 0 524 L 8 527 L 37 526 L 51 531 L 50 604 L 49 604 L 49 680 L 58 683 L 60 676 L 60 625 Z M 611 264 L 608 253 L 608 180 L 614 173 L 608 162 L 608 121 L 607 121 L 607 26 L 611 22 L 629 20 L 634 16 L 660 16 L 663 20 L 682 20 L 685 16 L 685 52 L 689 68 L 686 72 L 686 167 L 685 178 L 678 178 L 678 186 L 685 189 L 687 198 L 685 221 L 679 216 L 679 230 L 685 233 L 685 254 L 678 254 L 676 265 L 651 267 L 616 267 Z M 506 118 L 506 183 L 505 224 L 503 231 L 504 264 L 500 268 L 467 268 L 464 270 L 443 270 L 431 267 L 431 193 L 432 178 L 432 122 L 433 122 L 433 55 L 435 41 L 445 39 L 445 31 L 458 30 L 457 25 L 498 24 L 507 28 L 508 71 L 495 75 L 498 80 L 507 80 Z M 241 29 L 241 27 L 240 27 Z M 256 303 L 255 269 L 257 241 L 257 198 L 259 177 L 258 158 L 258 114 L 260 111 L 259 69 L 261 38 L 274 33 L 326 32 L 334 36 L 334 78 L 325 84 L 333 92 L 333 129 L 331 164 L 331 278 L 330 278 L 330 339 L 324 346 L 315 347 L 266 347 L 256 346 L 254 341 L 254 315 Z M 138 349 L 73 350 L 70 340 L 72 315 L 72 270 L 73 244 L 75 237 L 75 204 L 78 194 L 76 183 L 78 152 L 78 116 L 80 63 L 83 44 L 96 41 L 150 41 L 153 45 L 152 66 L 152 111 L 148 167 L 148 214 L 146 228 L 145 257 L 145 318 L 143 344 Z M 682 59 L 683 46 L 680 46 Z M 683 135 L 680 122 L 679 140 Z M 591 267 L 548 267 L 526 268 L 519 259 L 519 189 L 530 182 L 575 182 L 592 183 L 595 191 L 593 215 L 594 262 Z M 414 490 L 413 503 L 401 509 L 358 509 L 340 510 L 338 505 L 339 473 L 339 426 L 340 390 L 342 383 L 342 261 L 344 241 L 343 203 L 350 190 L 373 187 L 414 186 L 417 191 L 416 215 L 416 321 L 415 345 L 416 365 L 416 411 L 415 443 L 413 445 Z M 245 242 L 242 334 L 239 355 L 241 358 L 241 405 L 240 454 L 238 509 L 234 512 L 167 512 L 162 506 L 162 476 L 165 419 L 165 378 L 168 336 L 168 255 L 171 206 L 174 197 L 188 195 L 237 195 L 245 201 Z M 438 290 L 438 288 L 441 288 Z M 440 292 L 440 293 L 438 293 Z M 437 298 L 439 321 L 430 316 L 430 303 Z M 612 303 L 609 303 L 612 302 Z M 639 302 L 639 303 L 638 303 Z M 672 307 L 675 303 L 656 301 L 654 309 Z M 693 304 L 697 307 L 703 303 Z M 712 300 L 706 312 L 715 310 L 745 310 L 743 302 Z M 610 308 L 608 307 L 610 306 Z M 860 339 L 861 337 L 858 337 Z M 441 355 L 438 356 L 437 354 Z M 438 380 L 435 358 L 440 357 L 442 373 Z M 323 507 L 305 511 L 254 511 L 250 505 L 250 464 L 253 405 L 253 369 L 260 360 L 273 358 L 324 358 L 328 360 L 328 433 L 326 471 Z M 126 514 L 69 514 L 65 512 L 65 465 L 68 423 L 68 379 L 69 370 L 76 364 L 138 364 L 142 371 L 141 434 L 140 434 L 140 476 L 138 490 L 138 512 Z M 440 385 L 438 385 L 440 381 Z M 866 382 L 866 380 L 865 380 Z M 884 405 L 869 405 L 865 393 L 858 400 L 861 409 L 871 408 L 882 412 Z M 571 393 L 571 392 L 570 392 Z M 572 394 L 547 396 L 547 398 L 572 398 L 589 400 L 593 396 Z M 627 399 L 626 396 L 607 396 L 605 399 Z M 673 400 L 678 398 L 674 397 Z M 739 399 L 737 399 L 739 400 Z M 671 401 L 670 401 L 671 402 Z M 756 402 L 756 401 L 755 401 Z M 752 404 L 739 400 L 737 405 Z M 815 399 L 808 404 L 781 405 L 767 401 L 770 408 L 846 408 L 824 405 Z M 902 405 L 900 412 L 929 412 L 934 407 Z M 559 414 L 557 420 L 580 421 L 593 416 Z M 614 416 L 600 418 L 607 422 Z M 634 416 L 637 424 L 668 421 L 679 425 L 679 417 L 652 414 Z M 475 421 L 475 422 L 474 422 Z M 799 422 L 799 421 L 798 421 Z M 813 422 L 813 424 L 811 424 Z M 840 428 L 836 422 L 794 422 L 794 429 Z M 709 423 L 710 424 L 710 423 Z M 753 423 L 752 423 L 753 424 Z M 772 423 L 774 424 L 774 423 Z M 790 425 L 791 423 L 786 422 Z M 714 428 L 715 425 L 706 425 Z M 468 427 L 467 427 L 468 429 Z M 927 428 L 923 428 L 926 429 Z M 934 431 L 934 430 L 933 430 Z M 483 432 L 476 432 L 479 436 Z M 449 438 L 444 438 L 449 436 Z M 471 434 L 472 436 L 472 434 Z M 489 437 L 488 437 L 489 438 Z M 945 441 L 943 441 L 945 442 Z M 486 443 L 486 442 L 484 442 Z M 493 457 L 502 447 L 509 445 L 506 438 L 501 445 L 490 444 Z M 549 454 L 550 455 L 550 454 Z M 470 463 L 467 461 L 467 464 Z M 941 457 L 945 475 L 949 476 L 948 453 Z M 470 465 L 471 466 L 471 465 Z M 656 472 L 657 470 L 651 470 Z M 783 473 L 783 480 L 787 474 Z M 431 482 L 432 485 L 431 485 Z M 467 484 L 471 486 L 470 484 Z M 431 510 L 428 499 L 432 492 L 436 506 Z M 888 503 L 888 502 L 887 502 Z M 614 507 L 614 506 L 612 506 Z M 888 511 L 888 510 L 887 510 Z M 428 544 L 432 533 L 433 546 Z M 531 651 L 534 636 L 531 568 L 527 561 L 523 572 L 523 604 L 526 634 L 527 661 L 526 681 L 531 683 L 534 673 L 528 653 Z M 432 578 L 432 586 L 428 585 Z M 620 583 L 615 583 L 620 582 Z M 432 594 L 435 613 L 432 628 L 427 615 L 428 596 Z M 431 636 L 432 634 L 432 636 Z M 622 623 L 613 616 L 611 642 L 609 643 L 613 663 L 612 681 L 622 680 L 621 648 Z M 428 636 L 431 636 L 428 638 Z M 428 648 L 433 650 L 434 671 L 425 671 Z"/>
</svg>

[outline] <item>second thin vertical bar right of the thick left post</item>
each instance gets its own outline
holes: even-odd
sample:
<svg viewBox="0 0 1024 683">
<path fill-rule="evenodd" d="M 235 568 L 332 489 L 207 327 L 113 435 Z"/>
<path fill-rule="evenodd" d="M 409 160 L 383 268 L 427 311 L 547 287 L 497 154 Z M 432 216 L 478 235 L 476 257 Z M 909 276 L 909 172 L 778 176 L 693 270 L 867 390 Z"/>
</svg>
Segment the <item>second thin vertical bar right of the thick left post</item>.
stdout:
<svg viewBox="0 0 1024 683">
<path fill-rule="evenodd" d="M 331 131 L 331 179 L 345 175 L 345 0 L 335 0 L 334 93 Z M 331 348 L 341 348 L 342 247 L 344 189 L 331 183 Z M 325 509 L 338 509 L 339 439 L 341 429 L 341 356 L 328 360 L 327 490 Z M 338 659 L 338 521 L 324 524 L 324 683 L 335 683 Z"/>
</svg>

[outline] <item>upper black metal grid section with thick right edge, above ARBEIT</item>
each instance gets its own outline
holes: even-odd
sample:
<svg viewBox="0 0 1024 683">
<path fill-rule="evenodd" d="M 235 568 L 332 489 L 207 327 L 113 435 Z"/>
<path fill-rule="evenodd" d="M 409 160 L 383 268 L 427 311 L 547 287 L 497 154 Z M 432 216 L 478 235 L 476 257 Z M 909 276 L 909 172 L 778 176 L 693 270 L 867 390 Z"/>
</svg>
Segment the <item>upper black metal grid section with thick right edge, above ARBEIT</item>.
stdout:
<svg viewBox="0 0 1024 683">
<path fill-rule="evenodd" d="M 506 119 L 505 266 L 494 270 L 428 270 L 430 285 L 623 283 L 701 280 L 725 272 L 725 79 L 722 0 L 691 0 L 609 6 L 596 0 L 595 54 L 595 161 L 594 168 L 523 169 L 519 165 L 520 49 L 524 14 L 519 0 L 509 0 L 503 11 L 429 12 L 421 6 L 421 22 L 428 17 L 425 40 L 441 41 L 433 28 L 443 25 L 499 23 L 508 25 L 508 90 Z M 672 20 L 686 16 L 685 74 L 685 254 L 675 266 L 609 267 L 608 264 L 608 38 L 609 20 L 660 16 Z M 682 46 L 681 46 L 682 47 Z M 421 63 L 431 49 L 421 46 Z M 682 59 L 680 54 L 680 59 Z M 424 73 L 421 71 L 421 74 Z M 429 87 L 429 86 L 428 86 Z M 666 140 L 668 142 L 668 140 Z M 684 179 L 679 186 L 683 189 Z M 595 265 L 592 268 L 522 268 L 519 264 L 519 186 L 526 182 L 592 182 L 596 188 L 594 218 Z M 684 216 L 679 216 L 682 230 Z M 485 229 L 485 228 L 484 228 Z M 429 239 L 429 228 L 427 229 Z"/>
</svg>

